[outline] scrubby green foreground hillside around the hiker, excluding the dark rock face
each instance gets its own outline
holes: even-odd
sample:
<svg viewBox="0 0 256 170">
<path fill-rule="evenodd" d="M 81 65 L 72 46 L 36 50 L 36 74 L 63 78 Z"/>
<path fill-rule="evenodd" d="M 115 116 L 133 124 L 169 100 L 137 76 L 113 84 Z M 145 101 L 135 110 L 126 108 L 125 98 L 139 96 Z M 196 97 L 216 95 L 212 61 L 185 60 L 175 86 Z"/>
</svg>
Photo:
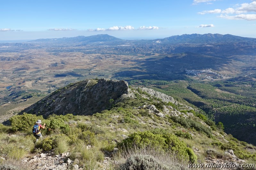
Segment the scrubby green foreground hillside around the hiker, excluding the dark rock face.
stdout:
<svg viewBox="0 0 256 170">
<path fill-rule="evenodd" d="M 109 87 L 116 83 L 91 81 L 94 83 L 85 91 L 94 89 L 102 81 L 105 82 L 102 89 L 106 84 Z M 128 87 L 122 81 L 117 84 Z M 38 103 L 66 94 L 73 88 L 69 85 L 59 89 Z M 37 158 L 34 155 L 41 153 L 51 155 L 49 159 L 65 153 L 63 162 L 67 163 L 58 162 L 56 167 L 69 169 L 188 169 L 190 163 L 256 163 L 255 146 L 227 135 L 223 124 L 215 124 L 200 108 L 152 89 L 130 87 L 127 91 L 125 96 L 108 99 L 102 111 L 89 115 L 76 112 L 57 115 L 54 107 L 50 107 L 52 114 L 23 112 L 13 116 L 9 126 L 0 126 L 1 168 L 49 167 L 46 163 L 40 162 L 39 166 L 32 161 Z M 41 105 L 41 109 L 48 106 Z M 35 143 L 31 129 L 38 119 L 46 128 L 42 130 L 43 140 Z"/>
</svg>

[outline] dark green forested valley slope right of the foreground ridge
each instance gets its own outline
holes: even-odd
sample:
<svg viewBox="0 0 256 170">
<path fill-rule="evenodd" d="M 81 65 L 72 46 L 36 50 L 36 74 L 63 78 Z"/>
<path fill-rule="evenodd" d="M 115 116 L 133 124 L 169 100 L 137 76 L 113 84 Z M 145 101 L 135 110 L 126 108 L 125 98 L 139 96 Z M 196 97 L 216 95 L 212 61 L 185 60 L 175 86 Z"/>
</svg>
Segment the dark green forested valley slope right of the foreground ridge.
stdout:
<svg viewBox="0 0 256 170">
<path fill-rule="evenodd" d="M 176 98 L 186 100 L 202 109 L 210 119 L 221 121 L 225 132 L 248 143 L 256 144 L 255 83 L 240 81 L 130 81 L 134 85 L 149 86 Z"/>
</svg>

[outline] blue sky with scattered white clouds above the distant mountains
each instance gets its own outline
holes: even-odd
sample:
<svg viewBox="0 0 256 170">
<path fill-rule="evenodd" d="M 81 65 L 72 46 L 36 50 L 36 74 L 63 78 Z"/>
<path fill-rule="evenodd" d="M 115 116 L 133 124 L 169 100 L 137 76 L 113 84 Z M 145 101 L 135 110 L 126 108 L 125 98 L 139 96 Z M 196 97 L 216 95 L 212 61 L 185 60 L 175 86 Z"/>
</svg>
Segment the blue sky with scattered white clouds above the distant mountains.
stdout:
<svg viewBox="0 0 256 170">
<path fill-rule="evenodd" d="M 108 34 L 256 38 L 256 0 L 1 0 L 0 42 Z"/>
</svg>

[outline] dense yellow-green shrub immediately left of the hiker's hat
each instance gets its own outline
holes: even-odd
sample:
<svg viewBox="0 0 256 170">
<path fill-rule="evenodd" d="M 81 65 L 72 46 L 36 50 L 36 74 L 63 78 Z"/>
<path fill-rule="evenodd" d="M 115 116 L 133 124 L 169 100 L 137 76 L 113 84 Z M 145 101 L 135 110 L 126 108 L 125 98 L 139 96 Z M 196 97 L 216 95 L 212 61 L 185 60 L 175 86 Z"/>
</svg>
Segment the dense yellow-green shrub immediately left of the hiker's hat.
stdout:
<svg viewBox="0 0 256 170">
<path fill-rule="evenodd" d="M 42 116 L 23 113 L 22 115 L 12 116 L 9 120 L 11 122 L 13 131 L 26 131 L 31 129 L 32 132 L 33 126 L 39 119 L 43 121 Z"/>
</svg>

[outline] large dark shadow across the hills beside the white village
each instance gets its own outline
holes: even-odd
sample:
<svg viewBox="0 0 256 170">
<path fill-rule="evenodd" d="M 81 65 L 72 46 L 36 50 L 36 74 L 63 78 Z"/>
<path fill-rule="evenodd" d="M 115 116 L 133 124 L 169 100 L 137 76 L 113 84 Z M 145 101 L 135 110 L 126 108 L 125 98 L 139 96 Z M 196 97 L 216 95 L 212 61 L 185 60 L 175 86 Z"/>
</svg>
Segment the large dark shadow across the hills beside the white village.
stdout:
<svg viewBox="0 0 256 170">
<path fill-rule="evenodd" d="M 185 80 L 186 70 L 217 69 L 231 63 L 226 58 L 217 58 L 189 52 L 169 56 L 157 56 L 155 58 L 145 59 L 138 63 L 138 67 L 116 73 L 114 78 Z"/>
</svg>

